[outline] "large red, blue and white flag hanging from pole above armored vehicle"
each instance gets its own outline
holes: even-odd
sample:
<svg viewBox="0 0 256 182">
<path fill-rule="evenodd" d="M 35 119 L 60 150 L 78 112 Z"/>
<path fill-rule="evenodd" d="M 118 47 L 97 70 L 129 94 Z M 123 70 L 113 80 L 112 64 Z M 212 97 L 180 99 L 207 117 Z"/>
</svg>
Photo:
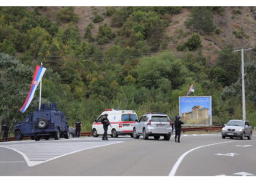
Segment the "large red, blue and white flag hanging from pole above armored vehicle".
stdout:
<svg viewBox="0 0 256 182">
<path fill-rule="evenodd" d="M 29 107 L 31 100 L 34 98 L 34 92 L 37 90 L 37 86 L 39 82 L 42 80 L 42 76 L 45 74 L 46 68 L 37 65 L 36 70 L 34 71 L 33 80 L 31 82 L 30 90 L 28 96 L 26 96 L 26 100 L 23 106 L 20 108 L 20 112 L 25 112 L 26 109 Z"/>
</svg>

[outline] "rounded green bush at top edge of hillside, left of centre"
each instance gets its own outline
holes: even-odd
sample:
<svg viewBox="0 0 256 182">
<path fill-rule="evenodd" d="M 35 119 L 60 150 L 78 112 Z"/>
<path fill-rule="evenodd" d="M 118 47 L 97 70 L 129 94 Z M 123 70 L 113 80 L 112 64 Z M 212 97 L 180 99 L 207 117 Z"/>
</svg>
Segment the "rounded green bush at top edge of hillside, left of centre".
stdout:
<svg viewBox="0 0 256 182">
<path fill-rule="evenodd" d="M 74 7 L 63 7 L 57 12 L 57 18 L 61 22 L 78 22 L 78 16 L 75 15 Z"/>
</svg>

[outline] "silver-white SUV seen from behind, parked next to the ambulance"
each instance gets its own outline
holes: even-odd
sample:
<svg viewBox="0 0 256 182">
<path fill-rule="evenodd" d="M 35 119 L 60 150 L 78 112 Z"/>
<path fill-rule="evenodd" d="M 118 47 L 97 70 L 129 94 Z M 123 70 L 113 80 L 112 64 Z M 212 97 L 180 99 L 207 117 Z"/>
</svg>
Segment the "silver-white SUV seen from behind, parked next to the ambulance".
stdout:
<svg viewBox="0 0 256 182">
<path fill-rule="evenodd" d="M 160 136 L 164 136 L 165 141 L 170 140 L 172 132 L 171 122 L 167 114 L 149 113 L 140 117 L 133 127 L 133 138 L 138 139 L 143 135 L 143 139 L 147 140 L 149 136 L 153 136 L 158 140 Z"/>
</svg>

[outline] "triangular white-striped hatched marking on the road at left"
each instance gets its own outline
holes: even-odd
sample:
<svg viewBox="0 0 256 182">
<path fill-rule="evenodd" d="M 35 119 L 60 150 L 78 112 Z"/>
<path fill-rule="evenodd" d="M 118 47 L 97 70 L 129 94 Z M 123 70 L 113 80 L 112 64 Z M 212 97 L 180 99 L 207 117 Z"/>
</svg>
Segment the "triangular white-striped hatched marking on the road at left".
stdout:
<svg viewBox="0 0 256 182">
<path fill-rule="evenodd" d="M 13 145 L 0 146 L 18 152 L 25 159 L 29 167 L 49 162 L 59 157 L 74 154 L 78 151 L 94 149 L 101 146 L 113 145 L 124 141 L 72 141 L 72 142 L 34 142 L 20 143 Z"/>
</svg>

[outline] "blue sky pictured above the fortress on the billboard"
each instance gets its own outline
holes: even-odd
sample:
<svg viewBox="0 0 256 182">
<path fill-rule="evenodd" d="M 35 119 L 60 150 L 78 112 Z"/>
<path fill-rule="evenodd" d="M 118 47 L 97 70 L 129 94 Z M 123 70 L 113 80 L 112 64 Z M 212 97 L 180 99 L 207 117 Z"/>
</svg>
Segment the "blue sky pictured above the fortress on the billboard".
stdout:
<svg viewBox="0 0 256 182">
<path fill-rule="evenodd" d="M 180 116 L 184 112 L 192 111 L 192 107 L 201 106 L 208 108 L 208 114 L 211 115 L 211 97 L 180 97 Z"/>
</svg>

